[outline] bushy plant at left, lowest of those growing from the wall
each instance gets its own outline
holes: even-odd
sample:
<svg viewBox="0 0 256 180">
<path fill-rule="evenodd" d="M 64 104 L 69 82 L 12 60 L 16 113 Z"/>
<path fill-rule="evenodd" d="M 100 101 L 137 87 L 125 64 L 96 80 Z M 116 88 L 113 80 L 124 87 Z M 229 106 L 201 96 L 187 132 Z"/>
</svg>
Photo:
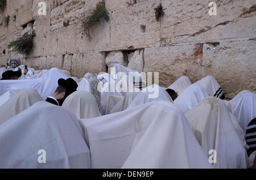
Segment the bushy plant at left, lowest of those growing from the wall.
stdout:
<svg viewBox="0 0 256 180">
<path fill-rule="evenodd" d="M 18 37 L 18 39 L 11 41 L 8 48 L 13 47 L 13 50 L 22 54 L 28 55 L 33 49 L 33 39 L 35 37 L 34 32 L 26 32 L 24 35 Z"/>
</svg>

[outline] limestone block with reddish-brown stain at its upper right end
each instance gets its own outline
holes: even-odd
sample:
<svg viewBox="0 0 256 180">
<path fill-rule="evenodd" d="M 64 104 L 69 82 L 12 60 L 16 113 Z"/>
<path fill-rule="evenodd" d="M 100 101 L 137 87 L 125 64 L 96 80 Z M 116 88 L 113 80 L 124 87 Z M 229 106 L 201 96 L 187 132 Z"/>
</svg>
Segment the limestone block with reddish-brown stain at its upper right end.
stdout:
<svg viewBox="0 0 256 180">
<path fill-rule="evenodd" d="M 144 72 L 159 73 L 159 85 L 168 87 L 181 76 L 200 79 L 202 45 L 145 48 Z"/>
</svg>

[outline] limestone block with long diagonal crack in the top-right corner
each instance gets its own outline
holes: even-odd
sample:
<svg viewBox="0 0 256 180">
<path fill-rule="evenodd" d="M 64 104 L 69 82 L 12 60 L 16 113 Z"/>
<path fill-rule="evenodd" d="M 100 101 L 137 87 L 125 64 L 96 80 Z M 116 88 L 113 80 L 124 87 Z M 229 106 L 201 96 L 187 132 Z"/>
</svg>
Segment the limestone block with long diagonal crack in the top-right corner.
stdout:
<svg viewBox="0 0 256 180">
<path fill-rule="evenodd" d="M 162 45 L 251 36 L 253 26 L 250 27 L 249 24 L 252 23 L 248 24 L 246 19 L 238 22 L 235 20 L 248 17 L 255 12 L 254 0 L 217 1 L 216 16 L 208 14 L 208 3 L 209 1 L 203 0 L 163 0 L 165 14 L 161 24 Z"/>
</svg>

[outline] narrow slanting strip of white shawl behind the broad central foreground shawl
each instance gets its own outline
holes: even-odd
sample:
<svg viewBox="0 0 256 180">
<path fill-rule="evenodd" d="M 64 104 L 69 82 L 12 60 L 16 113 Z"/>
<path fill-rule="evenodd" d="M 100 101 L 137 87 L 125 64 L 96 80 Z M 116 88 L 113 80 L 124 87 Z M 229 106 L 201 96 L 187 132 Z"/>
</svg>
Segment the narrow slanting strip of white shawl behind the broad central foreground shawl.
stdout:
<svg viewBox="0 0 256 180">
<path fill-rule="evenodd" d="M 122 97 L 117 104 L 110 110 L 110 114 L 115 112 L 124 111 L 127 107 L 130 106 L 131 102 L 133 102 L 134 98 L 139 94 L 139 92 L 127 93 L 124 97 Z"/>
</svg>

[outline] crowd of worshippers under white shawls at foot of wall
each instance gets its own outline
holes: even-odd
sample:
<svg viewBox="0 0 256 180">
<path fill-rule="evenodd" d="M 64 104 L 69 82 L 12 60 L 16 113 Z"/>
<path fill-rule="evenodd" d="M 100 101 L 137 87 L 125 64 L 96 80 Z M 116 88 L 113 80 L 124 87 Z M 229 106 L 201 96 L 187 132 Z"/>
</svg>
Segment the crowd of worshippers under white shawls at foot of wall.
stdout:
<svg viewBox="0 0 256 180">
<path fill-rule="evenodd" d="M 255 93 L 244 90 L 226 101 L 214 77 L 191 83 L 183 76 L 167 88 L 152 85 L 159 95 L 148 98 L 142 77 L 133 82 L 138 91 L 99 93 L 99 82 L 109 86 L 120 77 L 86 73 L 78 80 L 57 68 L 26 76 L 29 71 L 0 69 L 0 168 L 256 168 Z M 28 135 L 32 141 L 24 140 Z M 18 154 L 10 150 L 17 142 Z M 44 148 L 51 162 L 28 164 Z M 216 150 L 212 162 L 210 150 Z"/>
</svg>

